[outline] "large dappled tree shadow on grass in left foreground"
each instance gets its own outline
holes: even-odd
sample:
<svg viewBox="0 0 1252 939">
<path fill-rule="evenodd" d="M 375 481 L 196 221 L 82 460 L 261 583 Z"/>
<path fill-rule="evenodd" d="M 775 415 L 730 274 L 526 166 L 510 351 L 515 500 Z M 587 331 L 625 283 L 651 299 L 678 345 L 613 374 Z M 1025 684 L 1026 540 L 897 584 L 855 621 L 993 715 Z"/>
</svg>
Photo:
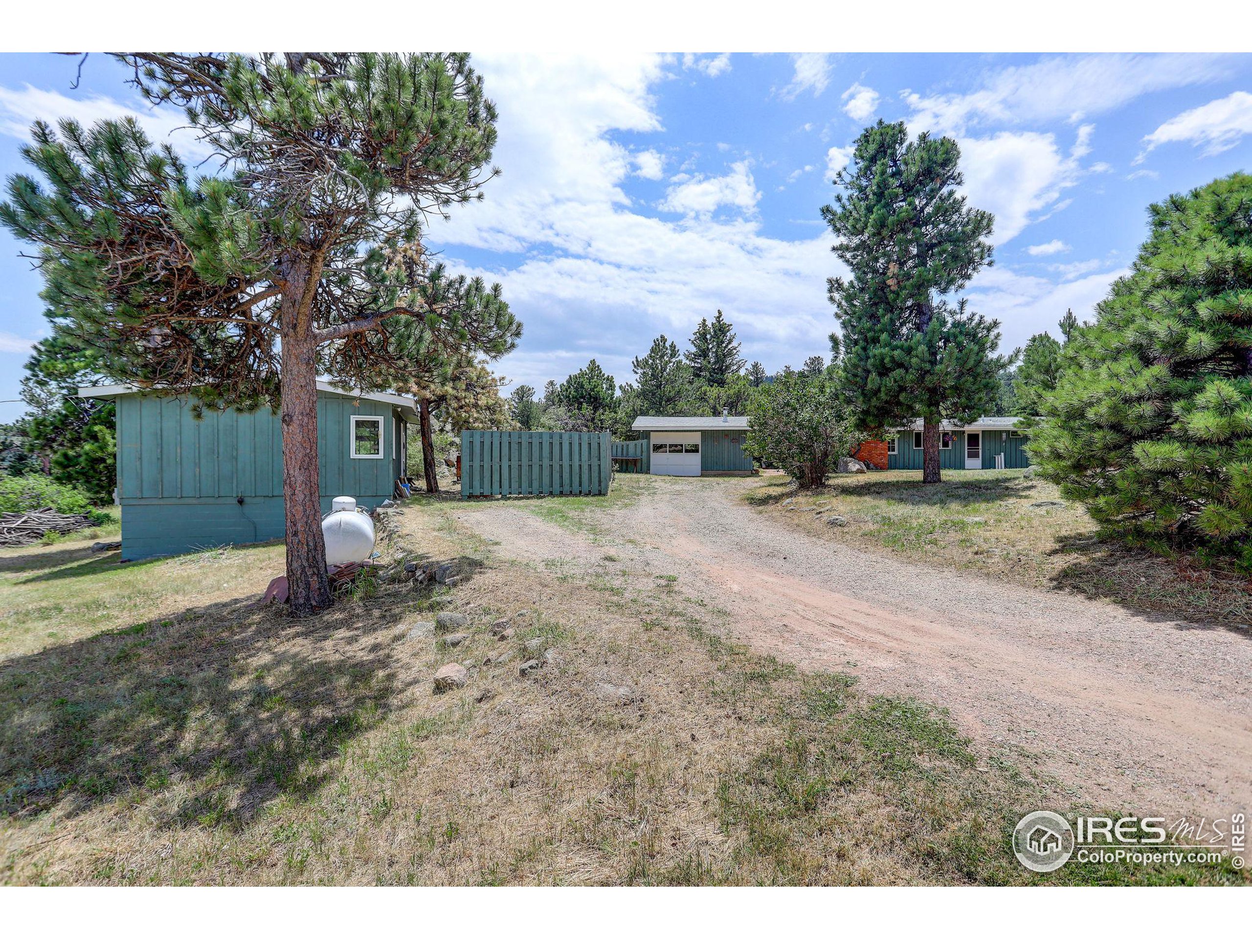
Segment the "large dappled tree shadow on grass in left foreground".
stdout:
<svg viewBox="0 0 1252 939">
<path fill-rule="evenodd" d="M 309 799 L 419 680 L 394 636 L 429 598 L 381 585 L 307 618 L 229 600 L 0 662 L 0 813 L 125 800 L 158 826 L 238 830 Z"/>
</svg>

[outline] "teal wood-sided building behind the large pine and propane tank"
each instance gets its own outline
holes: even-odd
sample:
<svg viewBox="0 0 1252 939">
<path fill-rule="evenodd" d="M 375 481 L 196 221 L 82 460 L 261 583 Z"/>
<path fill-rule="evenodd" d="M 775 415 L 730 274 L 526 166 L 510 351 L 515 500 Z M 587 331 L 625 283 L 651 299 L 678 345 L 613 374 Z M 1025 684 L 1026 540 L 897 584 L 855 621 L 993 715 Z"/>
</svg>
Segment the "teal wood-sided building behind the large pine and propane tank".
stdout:
<svg viewBox="0 0 1252 939">
<path fill-rule="evenodd" d="M 193 398 L 120 384 L 80 388 L 79 396 L 116 403 L 124 561 L 283 537 L 274 411 L 204 407 L 197 418 Z M 366 508 L 389 498 L 404 475 L 404 424 L 417 422 L 412 399 L 318 382 L 317 412 L 322 511 L 336 496 Z"/>
</svg>

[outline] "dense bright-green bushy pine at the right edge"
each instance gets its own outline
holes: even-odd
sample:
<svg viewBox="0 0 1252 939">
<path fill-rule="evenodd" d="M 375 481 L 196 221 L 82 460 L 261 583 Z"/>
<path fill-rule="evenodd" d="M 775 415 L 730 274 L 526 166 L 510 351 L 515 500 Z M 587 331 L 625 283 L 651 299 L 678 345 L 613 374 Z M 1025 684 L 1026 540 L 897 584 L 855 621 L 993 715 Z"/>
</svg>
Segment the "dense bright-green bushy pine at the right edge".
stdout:
<svg viewBox="0 0 1252 939">
<path fill-rule="evenodd" d="M 1252 175 L 1172 195 L 1149 225 L 1065 347 L 1030 453 L 1106 530 L 1252 573 Z"/>
</svg>

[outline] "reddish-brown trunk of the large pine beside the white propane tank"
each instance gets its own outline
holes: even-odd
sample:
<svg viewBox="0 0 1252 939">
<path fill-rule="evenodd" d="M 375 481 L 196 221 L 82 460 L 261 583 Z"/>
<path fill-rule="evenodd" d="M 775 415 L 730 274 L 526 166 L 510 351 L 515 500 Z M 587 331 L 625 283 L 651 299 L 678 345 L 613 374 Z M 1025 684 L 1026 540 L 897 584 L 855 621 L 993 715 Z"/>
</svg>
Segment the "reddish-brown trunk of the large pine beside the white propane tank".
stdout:
<svg viewBox="0 0 1252 939">
<path fill-rule="evenodd" d="M 322 538 L 317 470 L 317 343 L 307 316 L 283 298 L 282 424 L 287 586 L 292 611 L 307 616 L 331 606 Z M 290 316 L 288 316 L 290 312 Z"/>
</svg>

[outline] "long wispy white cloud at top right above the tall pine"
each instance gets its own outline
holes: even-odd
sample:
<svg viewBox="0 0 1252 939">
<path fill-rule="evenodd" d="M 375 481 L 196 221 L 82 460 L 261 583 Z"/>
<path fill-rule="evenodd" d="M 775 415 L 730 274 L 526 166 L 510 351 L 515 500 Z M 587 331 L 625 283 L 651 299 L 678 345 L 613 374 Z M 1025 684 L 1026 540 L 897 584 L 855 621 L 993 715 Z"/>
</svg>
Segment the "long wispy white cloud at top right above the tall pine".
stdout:
<svg viewBox="0 0 1252 939">
<path fill-rule="evenodd" d="M 1083 55 L 1042 59 L 983 76 L 969 93 L 921 95 L 905 90 L 910 125 L 947 134 L 985 124 L 1080 120 L 1148 91 L 1203 84 L 1229 74 L 1236 60 L 1217 55 Z"/>
</svg>

